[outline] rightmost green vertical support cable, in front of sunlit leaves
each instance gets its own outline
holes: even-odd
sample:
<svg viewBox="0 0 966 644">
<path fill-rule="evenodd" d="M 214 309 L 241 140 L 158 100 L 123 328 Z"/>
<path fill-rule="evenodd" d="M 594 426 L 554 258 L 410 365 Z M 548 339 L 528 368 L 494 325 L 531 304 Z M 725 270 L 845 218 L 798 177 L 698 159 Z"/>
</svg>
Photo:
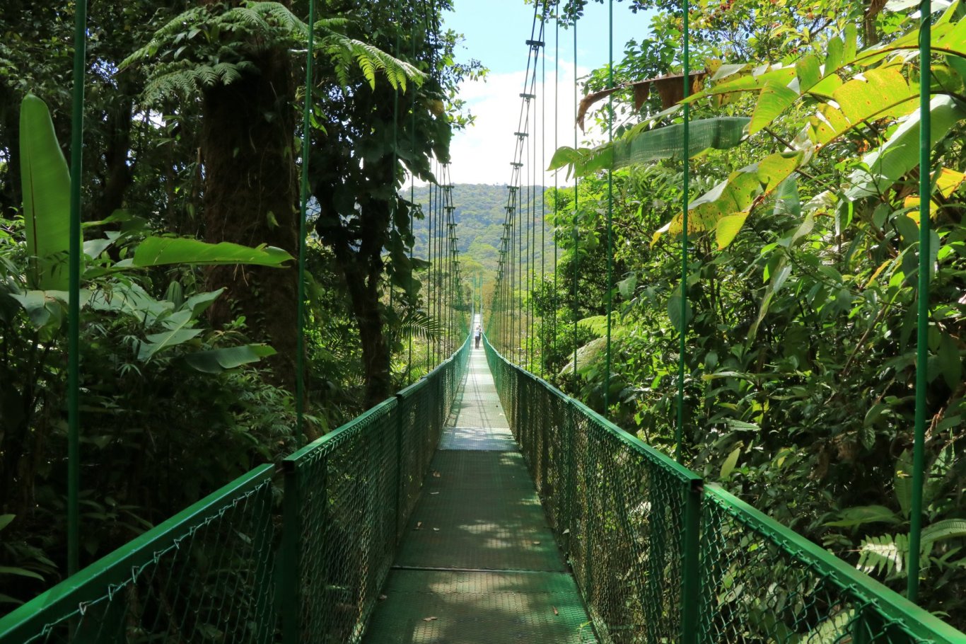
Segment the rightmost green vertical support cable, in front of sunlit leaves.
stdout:
<svg viewBox="0 0 966 644">
<path fill-rule="evenodd" d="M 932 148 L 929 113 L 929 86 L 931 81 L 931 22 L 932 8 L 929 0 L 920 6 L 919 28 L 919 286 L 916 319 L 916 426 L 913 437 L 912 456 L 912 503 L 909 520 L 909 576 L 906 598 L 919 598 L 920 543 L 923 532 L 923 483 L 925 468 L 925 404 L 928 382 L 928 331 L 929 331 L 929 272 L 932 270 L 932 253 L 929 249 L 929 202 L 931 196 Z"/>
</svg>

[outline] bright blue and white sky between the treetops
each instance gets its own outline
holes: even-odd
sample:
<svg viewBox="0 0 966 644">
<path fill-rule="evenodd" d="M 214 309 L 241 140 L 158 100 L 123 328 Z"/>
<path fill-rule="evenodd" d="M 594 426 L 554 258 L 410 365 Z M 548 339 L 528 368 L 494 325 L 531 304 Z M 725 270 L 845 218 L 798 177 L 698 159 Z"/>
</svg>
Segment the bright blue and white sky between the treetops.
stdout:
<svg viewBox="0 0 966 644">
<path fill-rule="evenodd" d="M 483 82 L 465 83 L 461 96 L 476 116 L 476 125 L 458 132 L 451 146 L 453 183 L 500 184 L 510 179 L 515 138 L 519 128 L 520 92 L 523 91 L 527 62 L 526 40 L 530 38 L 533 5 L 524 0 L 454 0 L 455 11 L 444 15 L 444 27 L 465 36 L 457 49 L 461 61 L 480 60 L 490 69 Z M 620 59 L 624 44 L 631 38 L 641 39 L 648 33 L 650 18 L 632 14 L 626 3 L 613 4 L 613 51 Z M 608 62 L 608 6 L 589 2 L 578 24 L 578 75 Z M 549 162 L 554 152 L 554 69 L 558 72 L 557 142 L 573 145 L 574 137 L 574 57 L 573 32 L 560 29 L 559 61 L 554 60 L 554 24 L 548 23 L 546 82 L 537 83 L 537 101 L 531 118 L 537 120 L 535 130 L 544 132 L 537 138 L 542 160 Z M 600 132 L 587 132 L 589 137 Z M 534 140 L 534 139 L 530 139 Z M 589 139 L 588 139 L 589 140 Z M 539 179 L 538 179 L 539 181 Z M 563 177 L 558 181 L 562 184 Z M 554 183 L 553 175 L 544 176 L 545 185 Z"/>
</svg>

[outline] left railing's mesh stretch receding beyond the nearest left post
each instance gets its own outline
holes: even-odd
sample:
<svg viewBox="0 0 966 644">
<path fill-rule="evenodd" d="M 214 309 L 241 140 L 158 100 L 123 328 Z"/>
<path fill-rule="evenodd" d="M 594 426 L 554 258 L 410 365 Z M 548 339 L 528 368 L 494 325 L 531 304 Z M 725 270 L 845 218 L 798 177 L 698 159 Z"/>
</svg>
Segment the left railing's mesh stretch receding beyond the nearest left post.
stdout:
<svg viewBox="0 0 966 644">
<path fill-rule="evenodd" d="M 423 380 L 284 461 L 284 641 L 361 639 L 466 370 Z"/>
</svg>

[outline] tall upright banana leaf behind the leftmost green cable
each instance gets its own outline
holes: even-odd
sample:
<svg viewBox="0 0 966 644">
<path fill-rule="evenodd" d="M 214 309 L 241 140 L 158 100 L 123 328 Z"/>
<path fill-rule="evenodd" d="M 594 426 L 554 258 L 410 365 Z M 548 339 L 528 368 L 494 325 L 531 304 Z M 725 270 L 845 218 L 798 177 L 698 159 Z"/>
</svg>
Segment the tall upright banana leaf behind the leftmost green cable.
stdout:
<svg viewBox="0 0 966 644">
<path fill-rule="evenodd" d="M 32 258 L 27 286 L 66 291 L 71 173 L 57 144 L 47 105 L 33 94 L 20 102 L 20 159 L 27 253 Z"/>
</svg>

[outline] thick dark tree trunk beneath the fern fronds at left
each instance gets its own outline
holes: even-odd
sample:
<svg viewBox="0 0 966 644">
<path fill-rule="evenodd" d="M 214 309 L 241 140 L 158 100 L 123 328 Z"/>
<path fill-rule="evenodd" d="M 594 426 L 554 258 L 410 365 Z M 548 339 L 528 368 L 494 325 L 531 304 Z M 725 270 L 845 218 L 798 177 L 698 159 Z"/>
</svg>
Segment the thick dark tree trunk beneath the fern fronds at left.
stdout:
<svg viewBox="0 0 966 644">
<path fill-rule="evenodd" d="M 259 73 L 204 93 L 201 150 L 209 242 L 269 244 L 298 251 L 295 115 L 288 52 L 271 49 L 253 61 Z M 293 269 L 214 267 L 209 287 L 227 287 L 212 307 L 214 323 L 245 316 L 248 335 L 267 341 L 275 381 L 295 389 L 298 330 L 297 275 Z"/>
</svg>

